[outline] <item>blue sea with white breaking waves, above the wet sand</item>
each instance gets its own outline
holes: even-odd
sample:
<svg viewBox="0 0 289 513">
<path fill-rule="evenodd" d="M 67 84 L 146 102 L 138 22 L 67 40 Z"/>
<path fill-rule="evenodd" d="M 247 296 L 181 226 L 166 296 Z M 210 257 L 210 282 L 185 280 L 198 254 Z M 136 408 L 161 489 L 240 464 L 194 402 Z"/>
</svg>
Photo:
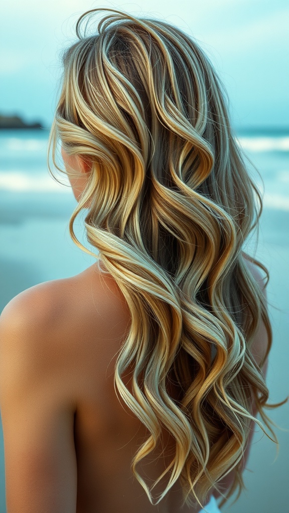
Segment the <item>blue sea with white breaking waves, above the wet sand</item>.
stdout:
<svg viewBox="0 0 289 513">
<path fill-rule="evenodd" d="M 33 193 L 36 201 L 40 196 L 41 201 L 46 201 L 49 192 L 55 194 L 56 202 L 57 193 L 69 194 L 69 188 L 53 181 L 47 172 L 47 139 L 48 130 L 0 131 L 1 202 L 5 202 L 7 192 L 9 203 L 13 197 L 19 201 L 20 193 Z M 281 135 L 274 131 L 265 135 L 242 132 L 238 141 L 264 180 L 264 206 L 289 210 L 289 131 Z M 258 175 L 255 177 L 261 187 Z M 67 184 L 63 175 L 60 179 Z"/>
</svg>

